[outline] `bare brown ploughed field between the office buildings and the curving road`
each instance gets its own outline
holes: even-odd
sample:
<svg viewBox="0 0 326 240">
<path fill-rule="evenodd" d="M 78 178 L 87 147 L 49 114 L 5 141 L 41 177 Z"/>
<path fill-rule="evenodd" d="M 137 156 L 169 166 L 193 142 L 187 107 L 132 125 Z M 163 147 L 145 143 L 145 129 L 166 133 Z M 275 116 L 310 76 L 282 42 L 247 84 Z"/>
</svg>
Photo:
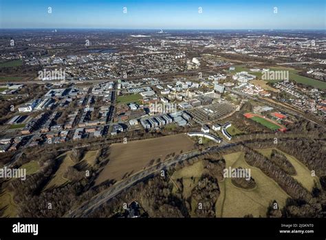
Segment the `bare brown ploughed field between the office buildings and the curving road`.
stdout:
<svg viewBox="0 0 326 240">
<path fill-rule="evenodd" d="M 144 139 L 110 146 L 109 162 L 96 179 L 96 185 L 107 181 L 120 181 L 126 176 L 138 172 L 160 161 L 166 156 L 194 149 L 194 142 L 186 134 L 177 134 L 154 139 Z"/>
</svg>

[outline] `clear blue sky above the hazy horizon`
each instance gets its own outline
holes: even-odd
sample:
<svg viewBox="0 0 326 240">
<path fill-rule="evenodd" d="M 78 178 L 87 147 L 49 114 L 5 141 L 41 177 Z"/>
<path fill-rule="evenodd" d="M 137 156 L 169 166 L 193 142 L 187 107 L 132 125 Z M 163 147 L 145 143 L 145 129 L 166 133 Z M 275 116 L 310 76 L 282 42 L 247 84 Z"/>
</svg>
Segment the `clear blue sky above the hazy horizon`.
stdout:
<svg viewBox="0 0 326 240">
<path fill-rule="evenodd" d="M 0 28 L 325 29 L 325 5 L 325 0 L 0 0 Z"/>
</svg>

